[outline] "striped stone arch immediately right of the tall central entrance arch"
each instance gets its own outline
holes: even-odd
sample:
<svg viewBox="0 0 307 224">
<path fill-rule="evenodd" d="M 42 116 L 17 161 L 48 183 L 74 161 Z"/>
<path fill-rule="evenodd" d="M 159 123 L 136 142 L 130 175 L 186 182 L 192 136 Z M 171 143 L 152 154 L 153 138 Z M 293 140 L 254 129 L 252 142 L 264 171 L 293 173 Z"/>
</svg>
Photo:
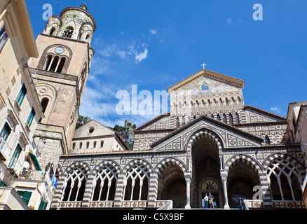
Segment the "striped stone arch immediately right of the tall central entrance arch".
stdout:
<svg viewBox="0 0 307 224">
<path fill-rule="evenodd" d="M 231 167 L 238 164 L 239 162 L 245 162 L 247 165 L 252 167 L 256 174 L 260 177 L 260 174 L 262 173 L 261 165 L 257 160 L 254 160 L 254 158 L 251 158 L 248 155 L 234 155 L 233 157 L 229 158 L 224 165 L 224 172 L 229 172 Z"/>
</svg>

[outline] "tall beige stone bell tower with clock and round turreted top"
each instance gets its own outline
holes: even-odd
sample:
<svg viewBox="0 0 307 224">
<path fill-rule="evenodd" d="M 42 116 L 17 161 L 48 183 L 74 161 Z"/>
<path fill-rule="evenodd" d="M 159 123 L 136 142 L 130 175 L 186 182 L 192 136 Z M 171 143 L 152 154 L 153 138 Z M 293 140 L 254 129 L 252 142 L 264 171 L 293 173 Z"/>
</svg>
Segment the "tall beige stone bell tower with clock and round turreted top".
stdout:
<svg viewBox="0 0 307 224">
<path fill-rule="evenodd" d="M 36 38 L 39 57 L 28 64 L 44 113 L 34 133 L 42 169 L 55 170 L 60 155 L 69 151 L 95 53 L 90 47 L 95 29 L 95 19 L 81 5 L 50 16 Z"/>
</svg>

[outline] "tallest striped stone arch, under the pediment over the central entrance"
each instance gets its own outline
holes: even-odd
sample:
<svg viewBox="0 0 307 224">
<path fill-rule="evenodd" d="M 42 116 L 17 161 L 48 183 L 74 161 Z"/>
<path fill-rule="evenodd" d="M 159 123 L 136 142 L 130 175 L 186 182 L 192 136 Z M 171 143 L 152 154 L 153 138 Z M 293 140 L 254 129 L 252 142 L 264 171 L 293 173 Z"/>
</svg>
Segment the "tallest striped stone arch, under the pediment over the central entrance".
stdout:
<svg viewBox="0 0 307 224">
<path fill-rule="evenodd" d="M 190 137 L 188 138 L 189 140 L 186 143 L 185 150 L 191 153 L 194 144 L 196 144 L 196 142 L 202 138 L 212 139 L 217 144 L 217 147 L 219 148 L 219 153 L 221 152 L 223 148 L 223 141 L 221 141 L 221 138 L 217 134 L 205 128 L 197 130 L 190 135 Z"/>
</svg>

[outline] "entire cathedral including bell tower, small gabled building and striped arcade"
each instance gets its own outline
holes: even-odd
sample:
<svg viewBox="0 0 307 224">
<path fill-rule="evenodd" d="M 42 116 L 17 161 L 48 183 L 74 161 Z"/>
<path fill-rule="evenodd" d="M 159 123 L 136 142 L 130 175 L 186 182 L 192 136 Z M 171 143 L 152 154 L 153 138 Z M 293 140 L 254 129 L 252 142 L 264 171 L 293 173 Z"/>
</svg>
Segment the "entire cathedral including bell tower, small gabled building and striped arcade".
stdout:
<svg viewBox="0 0 307 224">
<path fill-rule="evenodd" d="M 172 85 L 170 111 L 134 130 L 132 151 L 96 121 L 75 131 L 95 27 L 86 6 L 69 7 L 36 40 L 35 141 L 57 178 L 50 209 L 201 208 L 209 193 L 224 209 L 239 197 L 250 209 L 306 209 L 301 145 L 286 118 L 244 104 L 244 80 L 202 69 Z"/>
</svg>

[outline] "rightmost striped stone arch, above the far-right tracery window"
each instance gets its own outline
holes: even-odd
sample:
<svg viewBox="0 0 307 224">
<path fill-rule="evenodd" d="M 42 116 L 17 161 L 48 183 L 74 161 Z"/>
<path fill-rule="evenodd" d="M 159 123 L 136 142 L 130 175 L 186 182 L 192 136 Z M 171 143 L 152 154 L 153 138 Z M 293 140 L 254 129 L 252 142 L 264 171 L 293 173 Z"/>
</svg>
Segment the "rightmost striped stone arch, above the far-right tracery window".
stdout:
<svg viewBox="0 0 307 224">
<path fill-rule="evenodd" d="M 285 160 L 285 162 L 289 162 L 291 165 L 296 167 L 299 172 L 299 175 L 301 175 L 302 178 L 306 176 L 306 167 L 302 165 L 301 162 L 296 160 L 296 158 L 294 158 L 292 155 L 282 153 L 275 153 L 266 158 L 266 160 L 263 162 L 265 172 L 267 172 L 268 170 L 268 165 L 270 165 L 270 163 L 275 159 L 282 159 Z"/>
</svg>

